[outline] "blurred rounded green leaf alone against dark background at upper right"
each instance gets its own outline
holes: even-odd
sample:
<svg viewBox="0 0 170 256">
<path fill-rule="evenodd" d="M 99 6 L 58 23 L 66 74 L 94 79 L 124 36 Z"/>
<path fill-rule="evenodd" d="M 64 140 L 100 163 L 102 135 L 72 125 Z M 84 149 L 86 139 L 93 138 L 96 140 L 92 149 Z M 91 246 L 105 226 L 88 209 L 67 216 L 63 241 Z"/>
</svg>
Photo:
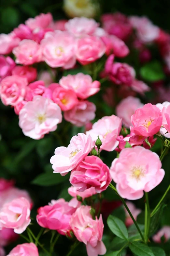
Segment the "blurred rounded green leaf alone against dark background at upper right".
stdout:
<svg viewBox="0 0 170 256">
<path fill-rule="evenodd" d="M 149 82 L 156 82 L 165 78 L 162 64 L 157 60 L 146 63 L 141 67 L 140 75 Z"/>
</svg>

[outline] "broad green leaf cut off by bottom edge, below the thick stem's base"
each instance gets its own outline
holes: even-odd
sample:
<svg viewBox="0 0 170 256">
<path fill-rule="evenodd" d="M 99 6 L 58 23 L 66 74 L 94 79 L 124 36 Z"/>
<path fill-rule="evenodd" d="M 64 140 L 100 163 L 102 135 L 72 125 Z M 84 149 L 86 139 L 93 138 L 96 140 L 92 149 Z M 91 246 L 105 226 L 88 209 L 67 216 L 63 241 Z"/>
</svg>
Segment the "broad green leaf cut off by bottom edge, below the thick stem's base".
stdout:
<svg viewBox="0 0 170 256">
<path fill-rule="evenodd" d="M 144 244 L 139 242 L 133 242 L 130 244 L 129 248 L 137 256 L 154 256 L 152 250 Z"/>
</svg>

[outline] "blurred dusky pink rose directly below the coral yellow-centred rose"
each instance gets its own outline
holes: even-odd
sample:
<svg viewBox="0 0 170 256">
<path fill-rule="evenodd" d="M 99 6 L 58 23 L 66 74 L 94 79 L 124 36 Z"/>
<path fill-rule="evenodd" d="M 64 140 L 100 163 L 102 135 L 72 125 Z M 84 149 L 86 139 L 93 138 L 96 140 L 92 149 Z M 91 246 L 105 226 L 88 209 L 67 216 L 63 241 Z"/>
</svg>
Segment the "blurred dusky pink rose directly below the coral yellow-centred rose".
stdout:
<svg viewBox="0 0 170 256">
<path fill-rule="evenodd" d="M 95 118 L 95 111 L 94 103 L 88 100 L 79 101 L 74 108 L 64 112 L 64 119 L 77 127 L 81 127 Z"/>
</svg>

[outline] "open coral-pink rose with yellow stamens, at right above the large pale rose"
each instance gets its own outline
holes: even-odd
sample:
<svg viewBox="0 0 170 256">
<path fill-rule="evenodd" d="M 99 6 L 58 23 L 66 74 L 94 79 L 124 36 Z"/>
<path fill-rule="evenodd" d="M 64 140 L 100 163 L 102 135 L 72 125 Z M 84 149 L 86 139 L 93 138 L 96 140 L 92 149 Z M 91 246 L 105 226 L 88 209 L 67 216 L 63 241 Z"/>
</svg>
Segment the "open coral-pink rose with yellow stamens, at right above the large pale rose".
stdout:
<svg viewBox="0 0 170 256">
<path fill-rule="evenodd" d="M 130 129 L 133 133 L 142 136 L 152 136 L 156 134 L 162 126 L 162 113 L 151 103 L 138 108 L 132 115 L 132 125 Z"/>
</svg>

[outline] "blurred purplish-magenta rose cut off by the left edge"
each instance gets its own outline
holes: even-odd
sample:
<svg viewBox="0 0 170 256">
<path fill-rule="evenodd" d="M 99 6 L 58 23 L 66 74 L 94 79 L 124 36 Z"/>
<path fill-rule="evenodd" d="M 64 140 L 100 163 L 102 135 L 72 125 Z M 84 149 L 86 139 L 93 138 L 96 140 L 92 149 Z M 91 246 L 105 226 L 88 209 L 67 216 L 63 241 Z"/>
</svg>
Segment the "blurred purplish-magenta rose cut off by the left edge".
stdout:
<svg viewBox="0 0 170 256">
<path fill-rule="evenodd" d="M 11 75 L 12 69 L 15 67 L 15 62 L 8 56 L 0 56 L 0 81 Z"/>
</svg>

